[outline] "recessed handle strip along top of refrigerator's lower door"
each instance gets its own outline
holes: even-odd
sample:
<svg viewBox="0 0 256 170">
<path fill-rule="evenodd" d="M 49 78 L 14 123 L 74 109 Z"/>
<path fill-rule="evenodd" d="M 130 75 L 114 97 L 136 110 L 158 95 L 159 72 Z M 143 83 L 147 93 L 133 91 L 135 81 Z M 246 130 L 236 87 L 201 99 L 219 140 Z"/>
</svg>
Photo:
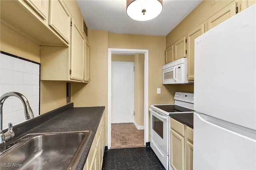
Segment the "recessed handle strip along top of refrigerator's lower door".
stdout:
<svg viewBox="0 0 256 170">
<path fill-rule="evenodd" d="M 212 126 L 223 129 L 224 131 L 234 133 L 234 134 L 236 134 L 240 137 L 243 137 L 245 139 L 248 139 L 250 141 L 256 142 L 255 131 L 252 129 L 248 129 L 248 128 L 245 128 L 245 127 L 242 127 L 239 125 L 235 125 L 233 123 L 222 121 L 220 119 L 216 119 L 215 117 L 204 115 L 202 113 L 195 113 L 195 114 L 198 116 L 199 119 L 201 119 L 205 123 L 208 123 Z"/>
</svg>

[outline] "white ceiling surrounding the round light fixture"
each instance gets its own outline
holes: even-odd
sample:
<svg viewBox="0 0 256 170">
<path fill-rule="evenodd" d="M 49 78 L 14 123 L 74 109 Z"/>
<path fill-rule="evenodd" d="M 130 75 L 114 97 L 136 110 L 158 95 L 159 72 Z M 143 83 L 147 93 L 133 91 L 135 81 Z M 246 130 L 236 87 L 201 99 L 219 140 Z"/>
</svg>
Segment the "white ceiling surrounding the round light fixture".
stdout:
<svg viewBox="0 0 256 170">
<path fill-rule="evenodd" d="M 134 21 L 126 14 L 126 0 L 77 0 L 89 29 L 110 33 L 166 36 L 202 0 L 163 0 L 162 13 L 150 21 Z"/>
</svg>

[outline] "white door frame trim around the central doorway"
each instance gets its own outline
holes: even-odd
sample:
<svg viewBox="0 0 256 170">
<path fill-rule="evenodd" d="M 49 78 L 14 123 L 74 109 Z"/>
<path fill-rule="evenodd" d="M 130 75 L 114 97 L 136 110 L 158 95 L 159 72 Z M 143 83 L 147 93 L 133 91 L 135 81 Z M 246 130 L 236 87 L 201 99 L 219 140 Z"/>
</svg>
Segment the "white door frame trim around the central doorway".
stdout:
<svg viewBox="0 0 256 170">
<path fill-rule="evenodd" d="M 144 54 L 144 145 L 148 142 L 148 49 L 108 48 L 108 149 L 111 147 L 111 56 L 112 54 Z"/>
</svg>

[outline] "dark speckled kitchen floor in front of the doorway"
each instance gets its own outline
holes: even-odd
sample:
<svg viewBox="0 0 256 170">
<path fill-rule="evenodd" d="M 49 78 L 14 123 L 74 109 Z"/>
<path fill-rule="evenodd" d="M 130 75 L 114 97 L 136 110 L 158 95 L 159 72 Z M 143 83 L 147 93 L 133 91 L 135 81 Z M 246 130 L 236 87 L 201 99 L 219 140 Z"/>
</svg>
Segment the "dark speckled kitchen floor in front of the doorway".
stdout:
<svg viewBox="0 0 256 170">
<path fill-rule="evenodd" d="M 102 170 L 165 170 L 165 168 L 150 147 L 140 147 L 106 150 Z"/>
</svg>

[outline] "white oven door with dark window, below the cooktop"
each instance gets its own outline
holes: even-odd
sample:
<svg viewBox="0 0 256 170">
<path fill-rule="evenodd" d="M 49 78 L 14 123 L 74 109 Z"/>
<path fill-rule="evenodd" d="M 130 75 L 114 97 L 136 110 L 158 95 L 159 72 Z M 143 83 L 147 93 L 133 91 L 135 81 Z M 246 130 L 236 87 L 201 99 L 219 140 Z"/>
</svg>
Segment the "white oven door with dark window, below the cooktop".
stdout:
<svg viewBox="0 0 256 170">
<path fill-rule="evenodd" d="M 150 138 L 166 155 L 169 143 L 169 116 L 150 108 Z"/>
</svg>

